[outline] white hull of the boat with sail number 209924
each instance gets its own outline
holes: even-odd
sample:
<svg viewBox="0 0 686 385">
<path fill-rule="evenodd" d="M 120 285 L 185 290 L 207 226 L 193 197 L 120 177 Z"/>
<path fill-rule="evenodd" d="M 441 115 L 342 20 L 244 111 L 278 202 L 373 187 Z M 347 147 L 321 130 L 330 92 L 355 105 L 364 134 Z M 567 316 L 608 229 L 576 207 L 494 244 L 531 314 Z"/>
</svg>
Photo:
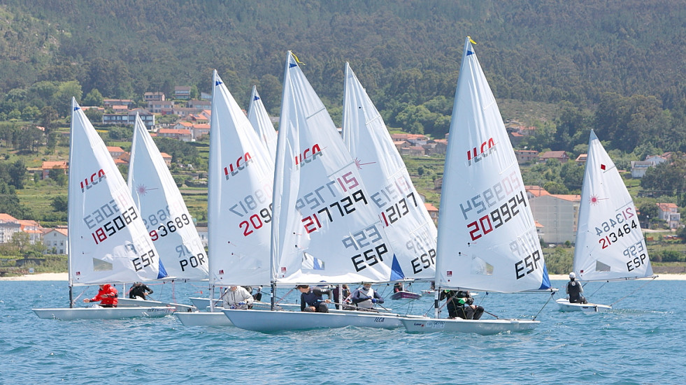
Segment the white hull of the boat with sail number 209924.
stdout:
<svg viewBox="0 0 686 385">
<path fill-rule="evenodd" d="M 541 321 L 531 319 L 401 319 L 410 333 L 476 333 L 491 335 L 530 330 Z"/>
</svg>

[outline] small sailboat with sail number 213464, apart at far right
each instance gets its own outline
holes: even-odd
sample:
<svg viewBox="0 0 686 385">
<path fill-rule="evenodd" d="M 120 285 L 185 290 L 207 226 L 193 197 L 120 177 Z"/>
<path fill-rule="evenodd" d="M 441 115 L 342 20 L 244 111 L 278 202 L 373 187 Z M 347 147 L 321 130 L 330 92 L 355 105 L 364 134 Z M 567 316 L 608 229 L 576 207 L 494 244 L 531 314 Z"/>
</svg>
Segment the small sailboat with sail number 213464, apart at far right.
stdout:
<svg viewBox="0 0 686 385">
<path fill-rule="evenodd" d="M 655 278 L 638 213 L 617 167 L 591 131 L 581 189 L 573 270 L 580 282 Z M 609 312 L 611 305 L 569 303 L 564 312 Z"/>
</svg>

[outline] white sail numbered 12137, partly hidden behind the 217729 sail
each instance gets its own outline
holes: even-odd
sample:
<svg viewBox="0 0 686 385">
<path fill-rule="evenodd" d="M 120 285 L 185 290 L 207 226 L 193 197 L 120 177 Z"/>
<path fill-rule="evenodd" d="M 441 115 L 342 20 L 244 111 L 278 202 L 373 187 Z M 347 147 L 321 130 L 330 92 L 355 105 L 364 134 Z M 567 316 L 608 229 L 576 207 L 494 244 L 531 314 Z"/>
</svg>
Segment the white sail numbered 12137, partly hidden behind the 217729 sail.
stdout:
<svg viewBox="0 0 686 385">
<path fill-rule="evenodd" d="M 406 278 L 436 276 L 436 226 L 417 194 L 383 118 L 345 64 L 343 141 L 355 159 L 370 203 L 393 242 Z"/>
</svg>

